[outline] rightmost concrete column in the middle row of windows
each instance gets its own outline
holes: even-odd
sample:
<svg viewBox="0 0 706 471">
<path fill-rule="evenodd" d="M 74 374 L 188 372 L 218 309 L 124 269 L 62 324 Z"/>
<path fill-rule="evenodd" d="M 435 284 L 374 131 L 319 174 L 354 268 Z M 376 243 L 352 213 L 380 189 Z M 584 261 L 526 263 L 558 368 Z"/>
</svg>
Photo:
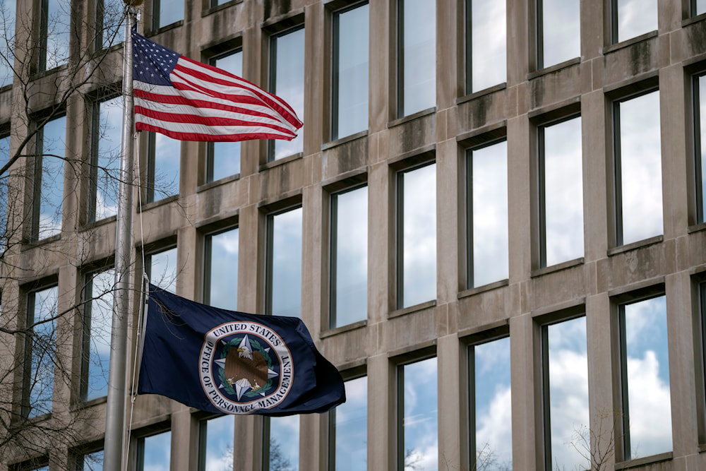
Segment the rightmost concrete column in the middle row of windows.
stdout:
<svg viewBox="0 0 706 471">
<path fill-rule="evenodd" d="M 664 239 L 688 233 L 689 192 L 693 178 L 687 169 L 684 68 L 679 64 L 659 70 L 659 120 L 662 128 L 662 214 Z M 688 159 L 692 158 L 690 155 Z"/>
</svg>

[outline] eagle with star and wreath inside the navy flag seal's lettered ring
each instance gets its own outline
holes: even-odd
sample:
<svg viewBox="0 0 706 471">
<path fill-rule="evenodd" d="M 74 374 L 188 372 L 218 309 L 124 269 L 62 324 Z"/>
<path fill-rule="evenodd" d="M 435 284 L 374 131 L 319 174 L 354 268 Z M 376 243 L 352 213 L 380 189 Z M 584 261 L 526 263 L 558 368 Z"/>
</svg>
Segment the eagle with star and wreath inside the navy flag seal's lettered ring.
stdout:
<svg viewBox="0 0 706 471">
<path fill-rule="evenodd" d="M 272 378 L 277 373 L 272 369 L 270 348 L 263 348 L 256 339 L 248 335 L 224 340 L 222 357 L 215 360 L 220 368 L 218 378 L 220 388 L 238 400 L 245 395 L 247 398 L 264 396 L 272 386 Z"/>
</svg>

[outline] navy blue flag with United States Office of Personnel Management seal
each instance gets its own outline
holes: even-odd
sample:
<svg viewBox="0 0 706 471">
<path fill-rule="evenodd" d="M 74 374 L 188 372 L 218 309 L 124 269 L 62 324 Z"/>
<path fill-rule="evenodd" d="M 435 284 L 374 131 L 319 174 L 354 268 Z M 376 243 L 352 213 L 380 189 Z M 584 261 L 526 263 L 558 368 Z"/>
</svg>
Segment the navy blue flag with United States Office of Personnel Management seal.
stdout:
<svg viewBox="0 0 706 471">
<path fill-rule="evenodd" d="M 296 317 L 189 301 L 150 285 L 138 394 L 207 412 L 282 416 L 346 400 L 338 370 Z"/>
</svg>

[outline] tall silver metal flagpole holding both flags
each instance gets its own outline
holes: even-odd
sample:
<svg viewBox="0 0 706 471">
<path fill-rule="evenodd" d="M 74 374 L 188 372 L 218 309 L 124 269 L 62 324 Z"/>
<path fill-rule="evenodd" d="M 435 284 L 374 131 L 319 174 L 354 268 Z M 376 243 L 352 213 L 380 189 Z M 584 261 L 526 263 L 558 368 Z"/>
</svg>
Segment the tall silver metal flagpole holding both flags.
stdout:
<svg viewBox="0 0 706 471">
<path fill-rule="evenodd" d="M 123 129 L 120 153 L 120 181 L 115 230 L 115 286 L 110 335 L 108 399 L 105 410 L 103 469 L 121 471 L 124 459 L 126 364 L 129 318 L 132 214 L 133 214 L 133 52 L 131 31 L 141 1 L 124 0 L 127 6 L 123 47 Z"/>
</svg>

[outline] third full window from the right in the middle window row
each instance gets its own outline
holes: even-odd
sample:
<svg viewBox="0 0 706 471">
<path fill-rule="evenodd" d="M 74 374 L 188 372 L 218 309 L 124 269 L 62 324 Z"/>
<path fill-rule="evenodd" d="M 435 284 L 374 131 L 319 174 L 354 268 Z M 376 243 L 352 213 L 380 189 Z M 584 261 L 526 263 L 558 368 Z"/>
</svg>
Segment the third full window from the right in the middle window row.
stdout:
<svg viewBox="0 0 706 471">
<path fill-rule="evenodd" d="M 509 274 L 508 143 L 467 152 L 468 287 Z"/>
</svg>

